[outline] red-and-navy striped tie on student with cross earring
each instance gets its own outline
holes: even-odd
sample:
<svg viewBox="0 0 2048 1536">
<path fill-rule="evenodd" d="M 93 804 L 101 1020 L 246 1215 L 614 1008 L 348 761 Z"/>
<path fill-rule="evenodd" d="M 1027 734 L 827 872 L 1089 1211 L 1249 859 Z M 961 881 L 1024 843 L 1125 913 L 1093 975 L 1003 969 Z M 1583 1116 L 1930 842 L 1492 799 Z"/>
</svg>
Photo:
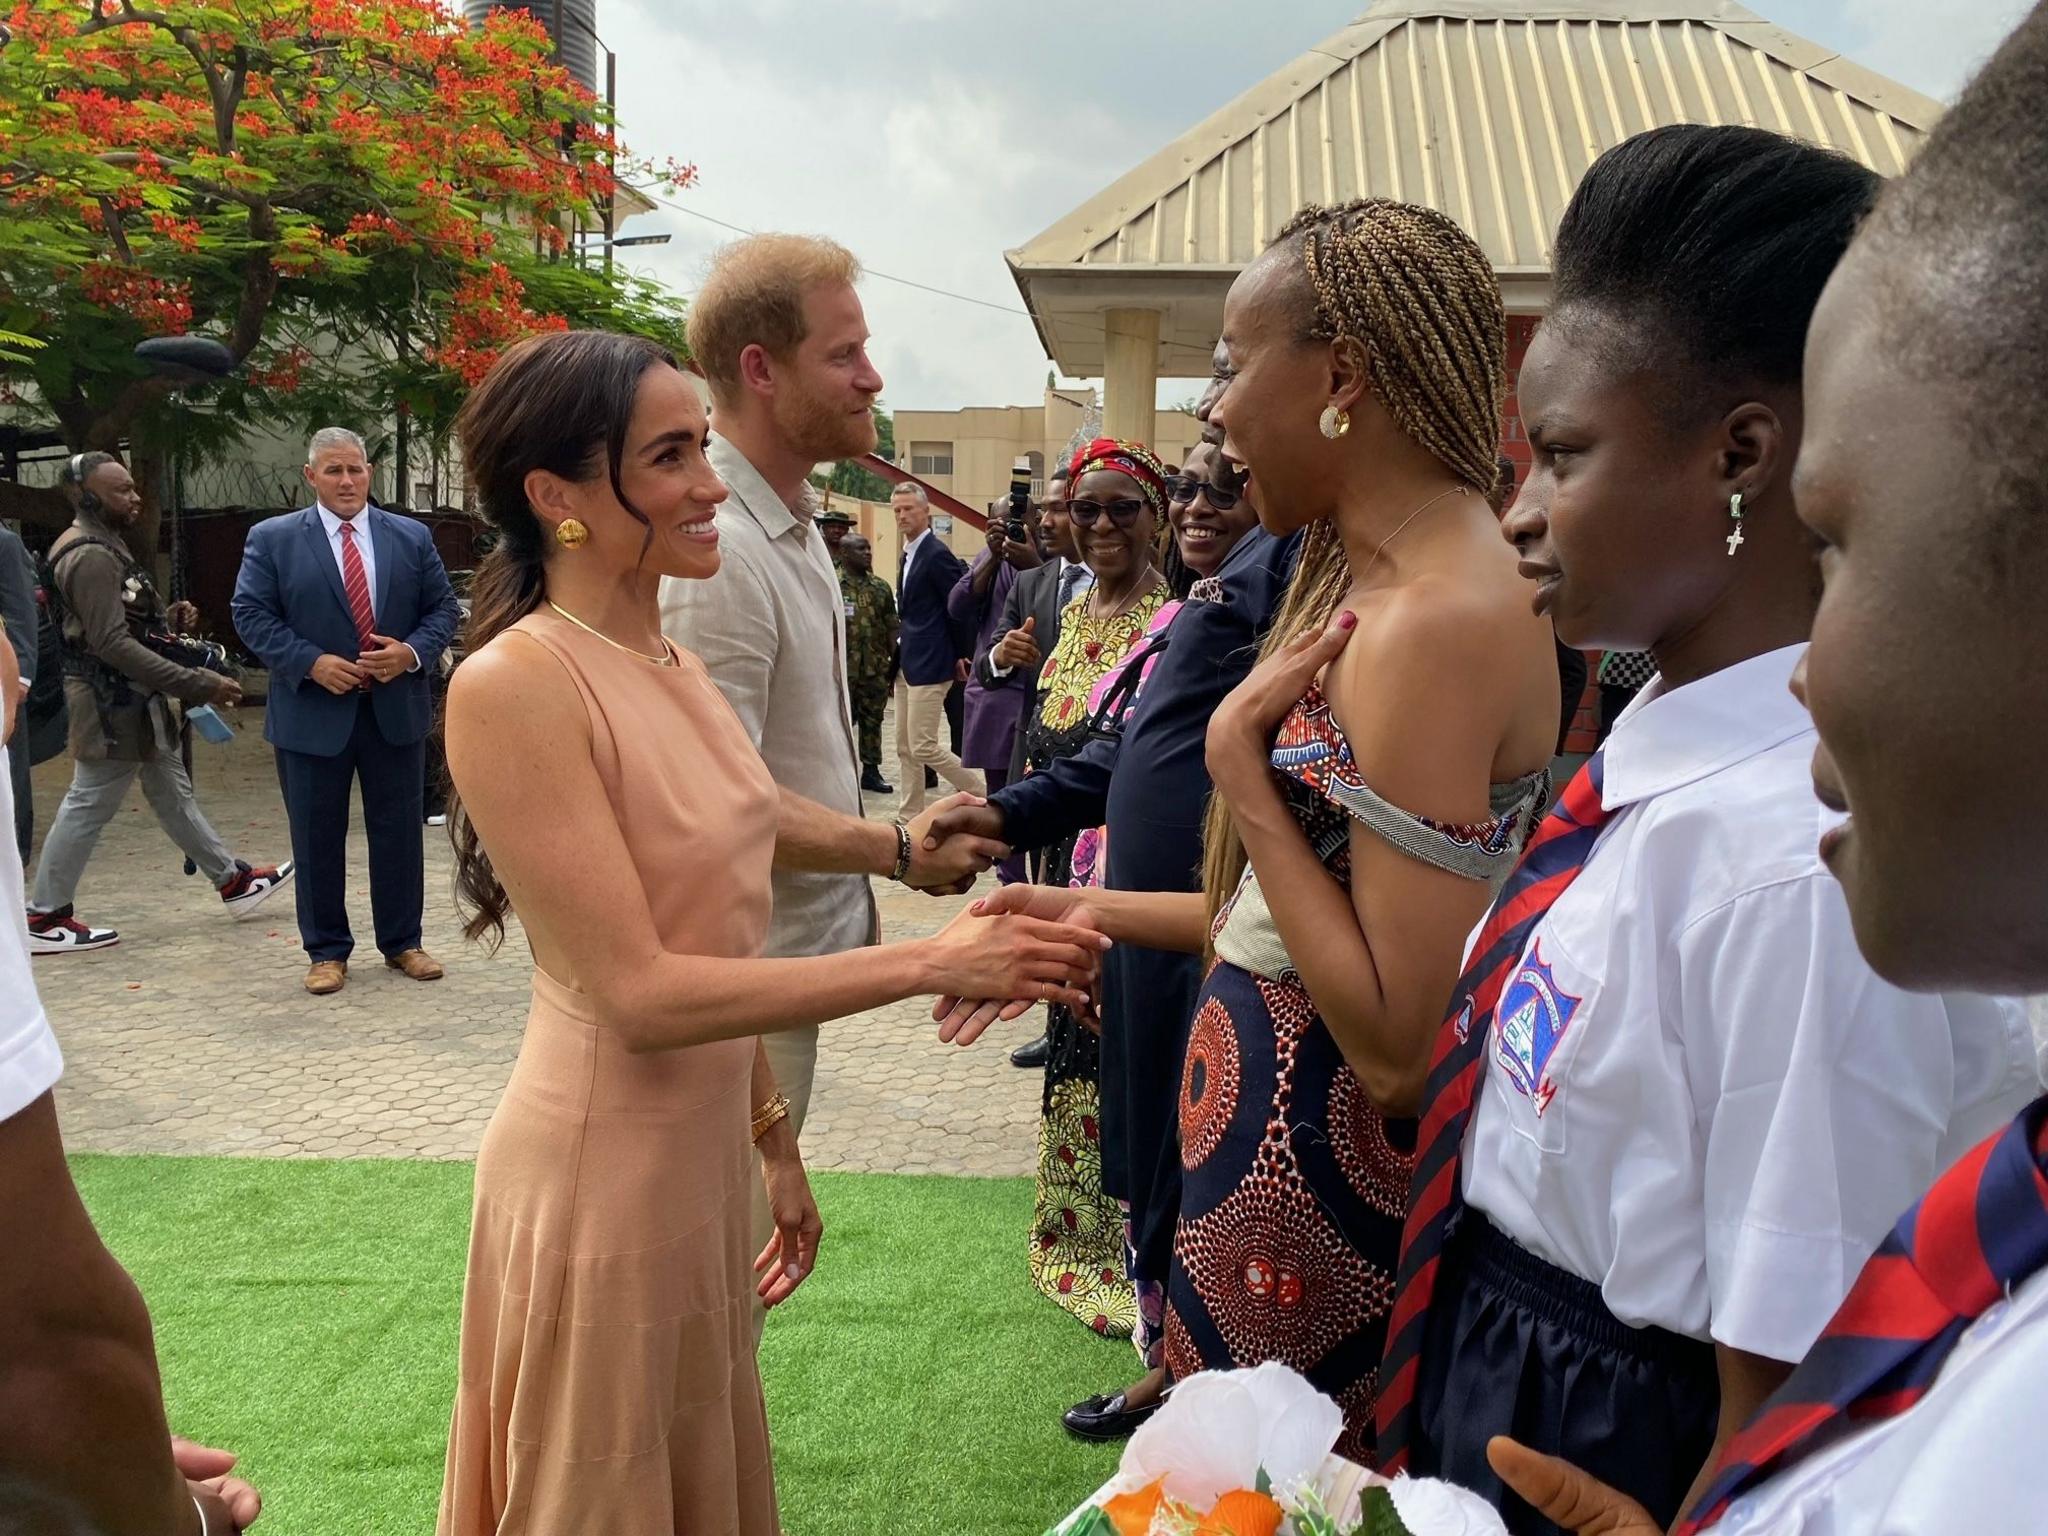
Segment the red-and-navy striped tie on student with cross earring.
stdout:
<svg viewBox="0 0 2048 1536">
<path fill-rule="evenodd" d="M 1380 1362 L 1380 1393 L 1372 1411 L 1378 1432 L 1378 1470 L 1386 1477 L 1407 1466 L 1413 1448 L 1423 1323 L 1444 1239 L 1450 1235 L 1452 1217 L 1464 1208 L 1458 1188 L 1460 1151 L 1479 1096 L 1479 1075 L 1487 1065 L 1493 1012 L 1536 924 L 1579 879 L 1599 829 L 1608 823 L 1610 813 L 1599 803 L 1602 776 L 1604 754 L 1595 752 L 1536 827 L 1536 836 L 1522 850 L 1522 862 L 1507 877 L 1479 930 L 1473 958 L 1452 993 L 1450 1016 L 1436 1036 L 1436 1057 L 1430 1061 L 1423 1085 L 1421 1126 L 1415 1133 L 1415 1184 L 1407 1225 L 1401 1231 L 1395 1309 L 1386 1321 L 1386 1356 Z"/>
</svg>

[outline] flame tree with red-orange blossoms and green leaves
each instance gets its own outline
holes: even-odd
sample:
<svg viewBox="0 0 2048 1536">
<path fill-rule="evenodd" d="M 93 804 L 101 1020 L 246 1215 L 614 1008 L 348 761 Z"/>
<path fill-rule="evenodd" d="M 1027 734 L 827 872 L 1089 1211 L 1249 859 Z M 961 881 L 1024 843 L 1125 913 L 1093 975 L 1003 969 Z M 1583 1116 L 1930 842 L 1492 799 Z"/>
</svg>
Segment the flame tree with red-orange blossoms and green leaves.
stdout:
<svg viewBox="0 0 2048 1536">
<path fill-rule="evenodd" d="M 537 330 L 682 346 L 680 303 L 584 266 L 625 168 L 604 106 L 520 10 L 438 0 L 14 0 L 0 43 L 0 406 L 74 451 L 133 444 L 154 545 L 164 453 L 367 418 L 444 442 L 461 391 Z M 688 166 L 639 168 L 670 186 Z M 133 356 L 207 334 L 240 373 L 172 442 Z M 406 475 L 399 475 L 406 483 Z M 0 485 L 0 512 L 63 520 Z"/>
</svg>

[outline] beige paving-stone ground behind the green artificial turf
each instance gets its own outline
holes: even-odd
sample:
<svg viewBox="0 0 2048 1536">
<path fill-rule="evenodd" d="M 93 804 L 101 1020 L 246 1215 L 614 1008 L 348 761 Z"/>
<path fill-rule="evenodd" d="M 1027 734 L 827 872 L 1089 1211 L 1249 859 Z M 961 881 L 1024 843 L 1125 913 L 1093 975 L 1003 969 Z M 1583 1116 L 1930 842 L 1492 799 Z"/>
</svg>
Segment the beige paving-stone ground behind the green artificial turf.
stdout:
<svg viewBox="0 0 2048 1536">
<path fill-rule="evenodd" d="M 195 745 L 199 801 L 252 862 L 289 852 L 260 711 L 242 735 Z M 37 770 L 39 829 L 70 760 Z M 887 815 L 870 799 L 870 815 Z M 377 965 L 369 864 L 350 842 L 350 905 L 367 963 L 338 997 L 301 985 L 289 891 L 246 924 L 182 874 L 141 791 L 109 825 L 78 909 L 121 930 L 98 954 L 39 958 L 37 985 L 63 1042 L 59 1112 L 70 1147 L 266 1157 L 473 1157 L 518 1053 L 530 963 L 516 936 L 489 956 L 463 942 L 449 895 L 446 834 L 426 831 L 426 946 L 436 983 Z M 883 932 L 928 934 L 961 905 L 877 881 Z M 715 899 L 715 893 L 707 893 Z M 940 1047 L 926 1004 L 899 1004 L 825 1030 L 805 1153 L 813 1167 L 1028 1174 L 1038 1075 L 1010 1065 L 1026 1022 L 971 1051 Z"/>
</svg>

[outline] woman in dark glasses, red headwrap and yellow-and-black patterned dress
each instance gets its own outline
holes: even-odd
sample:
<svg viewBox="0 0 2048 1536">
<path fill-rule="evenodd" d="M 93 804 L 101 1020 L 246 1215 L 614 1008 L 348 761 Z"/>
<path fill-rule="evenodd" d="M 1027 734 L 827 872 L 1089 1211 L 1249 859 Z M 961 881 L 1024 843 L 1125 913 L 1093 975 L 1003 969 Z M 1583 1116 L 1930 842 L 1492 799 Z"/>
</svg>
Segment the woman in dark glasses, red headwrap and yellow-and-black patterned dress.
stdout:
<svg viewBox="0 0 2048 1536">
<path fill-rule="evenodd" d="M 1145 444 L 1096 438 L 1073 457 L 1067 518 L 1096 584 L 1059 616 L 1059 645 L 1026 721 L 1028 772 L 1044 772 L 1087 743 L 1090 694 L 1137 649 L 1174 596 L 1159 571 L 1165 516 L 1165 465 Z M 1073 879 L 1075 842 L 1065 838 L 1049 850 L 1049 885 Z M 1098 1333 L 1128 1337 L 1137 1305 L 1124 1278 L 1122 1217 L 1102 1192 L 1100 1040 L 1071 1010 L 1049 1012 L 1032 1284 Z"/>
</svg>

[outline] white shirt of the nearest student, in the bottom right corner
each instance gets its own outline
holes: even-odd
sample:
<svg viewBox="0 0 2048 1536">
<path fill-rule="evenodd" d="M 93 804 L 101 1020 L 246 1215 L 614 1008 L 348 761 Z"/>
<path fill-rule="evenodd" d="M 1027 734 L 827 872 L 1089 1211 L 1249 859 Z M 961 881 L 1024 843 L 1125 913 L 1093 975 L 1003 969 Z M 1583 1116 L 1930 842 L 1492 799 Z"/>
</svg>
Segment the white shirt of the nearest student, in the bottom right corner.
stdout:
<svg viewBox="0 0 2048 1536">
<path fill-rule="evenodd" d="M 2005 1536 L 2048 1526 L 2048 1272 L 1956 1341 L 1927 1395 L 1726 1507 L 1710 1536 Z"/>
</svg>

